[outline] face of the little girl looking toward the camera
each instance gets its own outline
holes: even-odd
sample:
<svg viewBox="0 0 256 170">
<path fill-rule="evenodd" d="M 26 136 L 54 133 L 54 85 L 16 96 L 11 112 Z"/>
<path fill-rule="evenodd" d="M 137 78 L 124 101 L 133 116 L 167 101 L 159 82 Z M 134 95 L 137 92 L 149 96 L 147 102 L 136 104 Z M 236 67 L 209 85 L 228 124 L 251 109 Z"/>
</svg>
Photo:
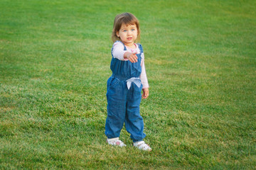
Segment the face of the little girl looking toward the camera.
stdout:
<svg viewBox="0 0 256 170">
<path fill-rule="evenodd" d="M 134 47 L 134 41 L 137 39 L 138 31 L 137 26 L 122 24 L 119 31 L 117 31 L 117 37 L 119 37 L 124 45 L 128 47 Z"/>
</svg>

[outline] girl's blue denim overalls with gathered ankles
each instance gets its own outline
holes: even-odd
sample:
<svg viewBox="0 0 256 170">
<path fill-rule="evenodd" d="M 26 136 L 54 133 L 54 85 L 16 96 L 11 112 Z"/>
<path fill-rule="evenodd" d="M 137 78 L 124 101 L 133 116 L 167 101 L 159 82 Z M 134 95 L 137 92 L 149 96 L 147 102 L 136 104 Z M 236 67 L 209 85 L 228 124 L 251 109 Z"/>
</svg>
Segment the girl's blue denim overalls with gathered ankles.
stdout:
<svg viewBox="0 0 256 170">
<path fill-rule="evenodd" d="M 131 134 L 133 142 L 142 141 L 146 135 L 143 132 L 144 123 L 139 114 L 139 104 L 142 100 L 142 83 L 139 79 L 142 73 L 142 45 L 137 54 L 138 62 L 121 61 L 113 57 L 110 64 L 112 76 L 107 80 L 107 120 L 105 135 L 107 138 L 119 137 L 123 125 Z M 127 48 L 124 45 L 124 50 Z M 112 48 L 113 51 L 113 48 Z"/>
</svg>

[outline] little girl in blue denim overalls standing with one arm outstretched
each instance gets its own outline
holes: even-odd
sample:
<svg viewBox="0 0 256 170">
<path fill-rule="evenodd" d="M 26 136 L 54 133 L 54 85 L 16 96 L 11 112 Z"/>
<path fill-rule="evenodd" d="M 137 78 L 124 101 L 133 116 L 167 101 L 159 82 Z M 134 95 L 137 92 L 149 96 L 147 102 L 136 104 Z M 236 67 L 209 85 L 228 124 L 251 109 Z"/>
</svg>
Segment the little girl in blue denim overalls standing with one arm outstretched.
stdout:
<svg viewBox="0 0 256 170">
<path fill-rule="evenodd" d="M 112 76 L 107 80 L 107 120 L 105 135 L 109 145 L 125 147 L 119 140 L 123 125 L 131 134 L 134 147 L 151 151 L 143 141 L 143 118 L 139 114 L 142 98 L 149 96 L 149 84 L 139 40 L 139 21 L 132 13 L 121 13 L 114 18 L 112 30 Z M 141 94 L 143 91 L 143 96 Z"/>
</svg>

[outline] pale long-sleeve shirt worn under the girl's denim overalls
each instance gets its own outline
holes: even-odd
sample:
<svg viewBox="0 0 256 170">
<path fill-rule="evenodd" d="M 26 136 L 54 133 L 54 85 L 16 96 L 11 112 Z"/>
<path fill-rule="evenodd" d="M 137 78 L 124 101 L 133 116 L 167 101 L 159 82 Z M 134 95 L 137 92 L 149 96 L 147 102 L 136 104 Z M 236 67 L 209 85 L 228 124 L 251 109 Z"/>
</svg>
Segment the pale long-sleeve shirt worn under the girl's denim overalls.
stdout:
<svg viewBox="0 0 256 170">
<path fill-rule="evenodd" d="M 140 53 L 139 50 L 139 46 L 137 44 L 135 44 L 136 48 L 135 49 L 131 49 L 129 47 L 126 47 L 127 50 L 124 50 L 124 45 L 122 44 L 122 42 L 114 42 L 113 45 L 113 51 L 112 51 L 112 55 L 114 58 L 117 58 L 118 60 L 122 60 L 122 61 L 127 61 L 126 59 L 124 59 L 124 53 L 125 52 L 137 52 L 137 54 Z M 142 85 L 143 85 L 143 89 L 149 88 L 149 83 L 148 80 L 146 78 L 146 69 L 145 69 L 145 64 L 144 64 L 144 53 L 142 52 L 142 62 L 141 62 L 141 66 L 142 66 L 142 74 L 140 75 L 140 79 L 142 81 Z"/>
</svg>

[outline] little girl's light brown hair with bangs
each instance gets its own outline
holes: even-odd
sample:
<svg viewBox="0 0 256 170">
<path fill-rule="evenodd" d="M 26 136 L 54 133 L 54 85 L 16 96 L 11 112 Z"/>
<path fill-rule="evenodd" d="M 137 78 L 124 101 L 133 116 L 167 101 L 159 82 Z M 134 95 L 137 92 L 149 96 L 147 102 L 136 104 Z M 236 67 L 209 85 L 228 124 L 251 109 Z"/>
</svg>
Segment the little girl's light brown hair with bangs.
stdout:
<svg viewBox="0 0 256 170">
<path fill-rule="evenodd" d="M 114 26 L 112 30 L 112 41 L 115 42 L 117 40 L 121 40 L 117 37 L 117 32 L 120 30 L 122 24 L 125 25 L 136 25 L 137 27 L 137 41 L 140 38 L 140 30 L 139 30 L 139 20 L 132 13 L 121 13 L 114 18 Z"/>
</svg>

